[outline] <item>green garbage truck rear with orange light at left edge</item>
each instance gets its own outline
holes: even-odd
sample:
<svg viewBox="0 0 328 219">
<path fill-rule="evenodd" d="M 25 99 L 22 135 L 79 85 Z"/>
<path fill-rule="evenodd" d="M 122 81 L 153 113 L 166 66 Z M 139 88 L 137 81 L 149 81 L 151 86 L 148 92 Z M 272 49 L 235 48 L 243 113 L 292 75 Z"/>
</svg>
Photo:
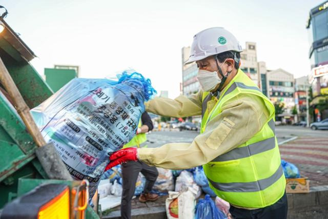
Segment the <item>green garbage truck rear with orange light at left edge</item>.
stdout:
<svg viewBox="0 0 328 219">
<path fill-rule="evenodd" d="M 0 74 L 9 73 L 23 98 L 20 102 L 32 109 L 53 92 L 29 63 L 36 55 L 3 17 L 0 25 L 4 27 Z M 35 153 L 38 145 L 30 124 L 17 107 L 22 103 L 14 101 L 6 83 L 0 83 L 0 218 L 100 218 L 97 197 L 93 197 L 92 207 L 89 205 L 88 181 L 54 179 L 45 170 Z"/>
</svg>

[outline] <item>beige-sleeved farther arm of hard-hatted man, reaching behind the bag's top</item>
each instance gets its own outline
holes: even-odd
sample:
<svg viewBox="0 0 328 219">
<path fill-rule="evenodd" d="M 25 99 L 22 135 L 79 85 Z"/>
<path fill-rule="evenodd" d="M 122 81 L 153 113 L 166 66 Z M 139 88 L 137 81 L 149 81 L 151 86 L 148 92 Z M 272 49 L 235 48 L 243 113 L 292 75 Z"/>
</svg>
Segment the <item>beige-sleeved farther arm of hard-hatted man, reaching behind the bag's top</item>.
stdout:
<svg viewBox="0 0 328 219">
<path fill-rule="evenodd" d="M 175 99 L 155 97 L 145 103 L 146 111 L 170 117 L 186 117 L 201 114 L 202 92 Z"/>
</svg>

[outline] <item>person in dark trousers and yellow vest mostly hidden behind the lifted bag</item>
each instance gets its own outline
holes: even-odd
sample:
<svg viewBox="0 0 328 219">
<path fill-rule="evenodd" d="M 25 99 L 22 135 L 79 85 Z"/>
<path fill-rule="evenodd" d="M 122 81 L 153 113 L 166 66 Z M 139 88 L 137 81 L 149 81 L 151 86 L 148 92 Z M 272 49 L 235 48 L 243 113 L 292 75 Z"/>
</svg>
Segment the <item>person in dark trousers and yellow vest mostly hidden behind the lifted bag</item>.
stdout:
<svg viewBox="0 0 328 219">
<path fill-rule="evenodd" d="M 137 129 L 137 134 L 123 148 L 142 148 L 147 147 L 146 132 L 153 129 L 153 123 L 149 114 L 145 111 L 141 115 L 141 120 Z M 135 191 L 135 184 L 139 172 L 146 178 L 144 191 L 139 197 L 140 202 L 155 201 L 159 197 L 157 194 L 150 193 L 158 176 L 156 167 L 149 166 L 143 162 L 128 161 L 121 165 L 122 168 L 122 198 L 121 198 L 121 218 L 131 218 L 131 201 Z"/>
</svg>

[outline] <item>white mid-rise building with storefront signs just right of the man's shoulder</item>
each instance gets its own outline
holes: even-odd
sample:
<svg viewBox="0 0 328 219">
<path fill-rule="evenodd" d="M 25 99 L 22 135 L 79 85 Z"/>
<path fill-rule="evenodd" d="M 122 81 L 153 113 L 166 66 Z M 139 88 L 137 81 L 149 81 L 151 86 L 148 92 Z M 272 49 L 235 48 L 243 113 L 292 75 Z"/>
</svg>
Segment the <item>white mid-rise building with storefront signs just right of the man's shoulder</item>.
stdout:
<svg viewBox="0 0 328 219">
<path fill-rule="evenodd" d="M 283 103 L 284 112 L 279 114 L 278 120 L 282 123 L 292 123 L 294 115 L 292 109 L 295 106 L 294 101 L 294 75 L 279 68 L 274 71 L 267 71 L 265 74 L 268 88 L 268 97 L 273 104 Z"/>
</svg>

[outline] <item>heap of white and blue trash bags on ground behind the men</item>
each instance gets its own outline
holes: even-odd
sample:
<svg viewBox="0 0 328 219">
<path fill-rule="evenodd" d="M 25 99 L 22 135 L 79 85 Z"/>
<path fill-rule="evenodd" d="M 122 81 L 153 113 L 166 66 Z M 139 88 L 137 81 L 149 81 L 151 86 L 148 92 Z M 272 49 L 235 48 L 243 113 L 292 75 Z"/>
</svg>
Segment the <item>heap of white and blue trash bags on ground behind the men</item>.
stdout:
<svg viewBox="0 0 328 219">
<path fill-rule="evenodd" d="M 167 170 L 157 167 L 157 170 L 158 177 L 152 192 L 159 195 L 169 195 L 166 200 L 168 218 L 207 219 L 212 218 L 213 212 L 218 215 L 213 218 L 230 218 L 230 204 L 217 197 L 213 190 L 210 189 L 201 166 L 187 170 Z M 104 181 L 110 185 L 105 187 Z M 142 193 L 145 182 L 145 176 L 139 173 L 135 185 L 135 196 Z M 107 194 L 107 196 L 120 196 L 122 191 L 121 184 L 120 165 L 106 171 L 101 177 L 101 182 L 98 186 L 100 201 L 101 198 L 106 197 L 104 194 Z M 196 200 L 202 192 L 206 193 L 206 197 L 204 199 L 200 198 L 196 205 Z M 215 203 L 212 200 L 214 197 L 216 197 Z M 178 206 L 182 207 L 178 208 Z"/>
</svg>

